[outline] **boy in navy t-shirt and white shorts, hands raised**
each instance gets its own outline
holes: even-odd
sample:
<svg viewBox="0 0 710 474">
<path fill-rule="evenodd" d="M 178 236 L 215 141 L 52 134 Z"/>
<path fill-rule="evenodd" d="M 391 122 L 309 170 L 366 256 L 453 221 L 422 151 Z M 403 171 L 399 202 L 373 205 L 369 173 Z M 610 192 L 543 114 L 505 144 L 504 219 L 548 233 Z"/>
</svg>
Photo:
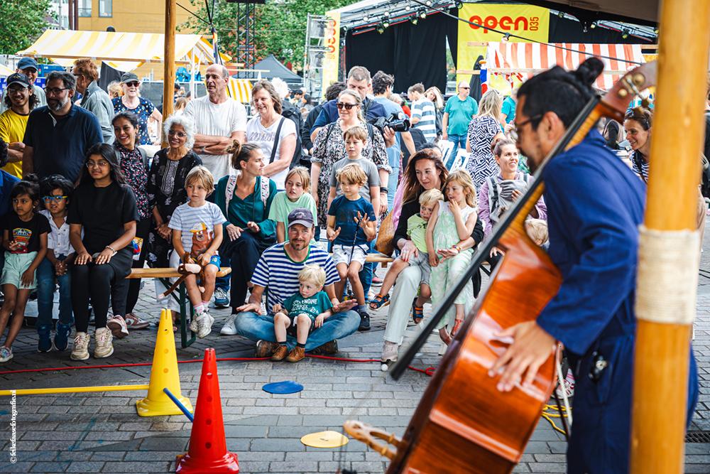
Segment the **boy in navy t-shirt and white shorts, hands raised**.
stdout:
<svg viewBox="0 0 710 474">
<path fill-rule="evenodd" d="M 359 165 L 344 166 L 337 178 L 343 195 L 330 205 L 327 228 L 328 239 L 333 242 L 333 261 L 341 279 L 335 284 L 335 294 L 342 295 L 345 279 L 349 279 L 358 304 L 357 312 L 369 323 L 365 291 L 358 274 L 365 264 L 369 242 L 377 235 L 375 211 L 360 195 L 360 188 L 367 183 L 367 175 Z M 369 324 L 361 327 L 369 328 Z"/>
</svg>

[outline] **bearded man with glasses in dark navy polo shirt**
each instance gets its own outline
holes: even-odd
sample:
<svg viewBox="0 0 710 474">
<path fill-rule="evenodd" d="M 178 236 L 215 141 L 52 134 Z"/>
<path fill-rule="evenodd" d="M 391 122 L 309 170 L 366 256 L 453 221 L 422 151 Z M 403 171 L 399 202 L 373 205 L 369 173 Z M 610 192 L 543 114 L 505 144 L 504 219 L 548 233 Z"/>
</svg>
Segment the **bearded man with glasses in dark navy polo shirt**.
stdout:
<svg viewBox="0 0 710 474">
<path fill-rule="evenodd" d="M 44 178 L 59 174 L 72 183 L 79 177 L 84 153 L 104 137 L 96 116 L 72 104 L 76 78 L 69 72 L 47 75 L 47 105 L 34 109 L 27 120 L 22 173 Z"/>
</svg>

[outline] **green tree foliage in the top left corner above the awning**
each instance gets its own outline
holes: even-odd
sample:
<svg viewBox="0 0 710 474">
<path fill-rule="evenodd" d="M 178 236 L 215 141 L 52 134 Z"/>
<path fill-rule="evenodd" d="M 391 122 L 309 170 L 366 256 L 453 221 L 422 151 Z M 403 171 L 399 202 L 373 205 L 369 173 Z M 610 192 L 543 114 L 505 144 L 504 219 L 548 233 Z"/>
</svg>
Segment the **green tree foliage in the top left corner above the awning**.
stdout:
<svg viewBox="0 0 710 474">
<path fill-rule="evenodd" d="M 50 0 L 0 0 L 0 54 L 27 48 L 47 28 Z"/>
</svg>

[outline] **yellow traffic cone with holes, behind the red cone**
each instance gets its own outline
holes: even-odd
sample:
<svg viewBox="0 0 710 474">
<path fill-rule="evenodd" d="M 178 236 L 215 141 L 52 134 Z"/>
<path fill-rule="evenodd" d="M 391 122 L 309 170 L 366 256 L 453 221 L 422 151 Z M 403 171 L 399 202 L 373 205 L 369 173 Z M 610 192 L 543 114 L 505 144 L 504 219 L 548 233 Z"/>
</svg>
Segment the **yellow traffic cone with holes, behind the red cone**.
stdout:
<svg viewBox="0 0 710 474">
<path fill-rule="evenodd" d="M 167 388 L 175 394 L 188 410 L 192 404 L 180 393 L 180 375 L 178 374 L 178 354 L 175 352 L 175 335 L 170 312 L 160 311 L 158 337 L 155 340 L 153 352 L 153 367 L 151 368 L 151 384 L 148 385 L 148 397 L 136 402 L 136 410 L 140 416 L 182 415 L 170 397 L 163 392 Z"/>
</svg>

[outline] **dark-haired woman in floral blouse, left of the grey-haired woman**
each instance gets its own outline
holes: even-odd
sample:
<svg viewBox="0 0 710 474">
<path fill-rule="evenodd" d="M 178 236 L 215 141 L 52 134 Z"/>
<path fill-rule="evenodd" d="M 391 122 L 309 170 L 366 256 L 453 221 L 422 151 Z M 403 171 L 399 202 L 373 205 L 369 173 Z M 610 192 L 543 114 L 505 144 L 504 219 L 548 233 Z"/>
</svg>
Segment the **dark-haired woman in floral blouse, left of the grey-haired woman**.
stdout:
<svg viewBox="0 0 710 474">
<path fill-rule="evenodd" d="M 133 247 L 133 268 L 143 268 L 148 253 L 148 232 L 151 230 L 151 209 L 148 207 L 148 159 L 146 152 L 138 148 L 138 117 L 132 112 L 119 112 L 111 121 L 114 126 L 114 150 L 126 184 L 131 186 L 136 195 L 139 220 L 136 222 L 136 237 Z M 149 323 L 133 314 L 133 308 L 141 291 L 141 280 L 133 279 L 128 283 L 126 301 L 111 301 L 114 317 L 107 323 L 116 338 L 128 335 L 128 329 L 144 329 Z M 124 315 L 121 318 L 121 315 Z"/>
</svg>

